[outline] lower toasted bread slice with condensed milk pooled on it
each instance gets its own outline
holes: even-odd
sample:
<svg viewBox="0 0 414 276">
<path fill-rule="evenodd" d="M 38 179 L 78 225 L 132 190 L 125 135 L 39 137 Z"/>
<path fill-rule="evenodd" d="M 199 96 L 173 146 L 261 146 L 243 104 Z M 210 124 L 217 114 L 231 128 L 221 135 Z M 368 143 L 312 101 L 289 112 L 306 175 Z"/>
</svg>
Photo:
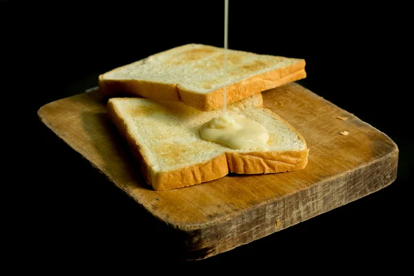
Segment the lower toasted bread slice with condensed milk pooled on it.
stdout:
<svg viewBox="0 0 414 276">
<path fill-rule="evenodd" d="M 108 117 L 141 164 L 155 190 L 181 188 L 224 177 L 228 172 L 259 174 L 299 170 L 308 162 L 302 135 L 271 110 L 262 93 L 228 106 L 262 124 L 266 150 L 233 150 L 201 139 L 199 128 L 222 110 L 202 112 L 177 101 L 143 98 L 108 100 Z"/>
</svg>

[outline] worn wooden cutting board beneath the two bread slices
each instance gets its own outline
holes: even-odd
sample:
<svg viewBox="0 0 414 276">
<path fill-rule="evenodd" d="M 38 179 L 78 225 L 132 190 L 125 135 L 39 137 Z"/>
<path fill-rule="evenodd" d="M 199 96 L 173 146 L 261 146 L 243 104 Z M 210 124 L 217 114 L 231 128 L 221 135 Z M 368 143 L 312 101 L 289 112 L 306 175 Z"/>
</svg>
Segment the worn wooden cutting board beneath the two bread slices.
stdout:
<svg viewBox="0 0 414 276">
<path fill-rule="evenodd" d="M 106 99 L 99 91 L 48 103 L 38 115 L 92 166 L 164 221 L 180 245 L 177 254 L 203 259 L 374 193 L 397 176 L 397 145 L 354 115 L 297 83 L 263 96 L 266 108 L 305 137 L 310 150 L 306 168 L 232 174 L 162 192 L 144 183 L 126 142 L 108 122 Z M 341 134 L 345 131 L 348 135 Z"/>
</svg>

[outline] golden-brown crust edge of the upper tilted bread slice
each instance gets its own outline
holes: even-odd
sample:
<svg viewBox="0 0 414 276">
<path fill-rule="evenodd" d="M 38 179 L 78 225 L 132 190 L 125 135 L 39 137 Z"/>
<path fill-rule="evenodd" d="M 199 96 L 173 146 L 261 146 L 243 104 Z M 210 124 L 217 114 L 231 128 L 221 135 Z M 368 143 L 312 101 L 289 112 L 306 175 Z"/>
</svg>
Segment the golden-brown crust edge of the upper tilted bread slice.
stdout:
<svg viewBox="0 0 414 276">
<path fill-rule="evenodd" d="M 276 68 L 236 83 L 229 84 L 227 103 L 239 101 L 264 90 L 306 77 L 305 61 L 302 59 L 292 66 Z M 115 69 L 119 70 L 119 68 Z M 99 75 L 99 90 L 109 97 L 125 93 L 150 99 L 182 101 L 201 111 L 217 110 L 224 105 L 224 88 L 208 93 L 199 93 L 181 88 L 179 83 L 157 83 L 137 79 L 105 79 Z"/>
</svg>

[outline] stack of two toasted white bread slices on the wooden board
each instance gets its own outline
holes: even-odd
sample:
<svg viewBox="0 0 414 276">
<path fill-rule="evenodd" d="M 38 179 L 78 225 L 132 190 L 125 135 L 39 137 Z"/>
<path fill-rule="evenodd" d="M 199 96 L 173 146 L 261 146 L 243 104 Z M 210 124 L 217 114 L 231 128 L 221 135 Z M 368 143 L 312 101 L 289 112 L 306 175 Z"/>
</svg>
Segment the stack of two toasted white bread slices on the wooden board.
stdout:
<svg viewBox="0 0 414 276">
<path fill-rule="evenodd" d="M 263 108 L 262 93 L 306 77 L 304 59 L 257 55 L 188 44 L 99 76 L 108 117 L 137 157 L 155 190 L 200 184 L 228 175 L 300 170 L 308 162 L 302 135 Z M 226 77 L 224 77 L 226 75 Z M 226 101 L 224 87 L 226 86 Z M 238 150 L 200 135 L 200 127 L 226 111 L 262 124 L 262 150 Z"/>
</svg>

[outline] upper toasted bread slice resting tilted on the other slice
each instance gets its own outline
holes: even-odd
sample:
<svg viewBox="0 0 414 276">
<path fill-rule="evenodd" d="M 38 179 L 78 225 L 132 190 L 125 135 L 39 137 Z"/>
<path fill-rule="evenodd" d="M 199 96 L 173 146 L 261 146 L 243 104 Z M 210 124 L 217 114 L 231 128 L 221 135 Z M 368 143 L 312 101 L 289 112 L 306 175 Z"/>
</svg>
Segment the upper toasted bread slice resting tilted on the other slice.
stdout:
<svg viewBox="0 0 414 276">
<path fill-rule="evenodd" d="M 227 103 L 306 77 L 304 59 L 227 52 Z M 150 99 L 182 101 L 198 110 L 224 103 L 224 48 L 188 44 L 99 76 L 99 88 Z"/>
</svg>

